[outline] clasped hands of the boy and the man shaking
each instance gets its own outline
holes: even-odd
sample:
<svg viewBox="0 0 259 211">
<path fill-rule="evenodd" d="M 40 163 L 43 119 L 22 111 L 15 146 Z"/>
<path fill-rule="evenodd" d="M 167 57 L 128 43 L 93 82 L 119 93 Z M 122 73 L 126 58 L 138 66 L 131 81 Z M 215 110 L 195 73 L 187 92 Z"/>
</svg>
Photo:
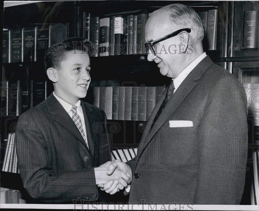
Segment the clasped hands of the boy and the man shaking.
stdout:
<svg viewBox="0 0 259 211">
<path fill-rule="evenodd" d="M 94 170 L 96 185 L 111 195 L 131 183 L 131 169 L 120 160 L 108 161 Z"/>
</svg>

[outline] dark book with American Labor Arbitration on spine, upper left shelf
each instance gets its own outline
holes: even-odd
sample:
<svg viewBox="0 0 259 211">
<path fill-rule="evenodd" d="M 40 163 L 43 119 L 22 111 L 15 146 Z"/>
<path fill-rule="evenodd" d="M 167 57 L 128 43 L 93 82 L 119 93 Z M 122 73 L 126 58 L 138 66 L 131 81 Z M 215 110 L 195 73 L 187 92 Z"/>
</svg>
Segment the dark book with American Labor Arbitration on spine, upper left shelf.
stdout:
<svg viewBox="0 0 259 211">
<path fill-rule="evenodd" d="M 22 56 L 22 29 L 10 30 L 10 62 L 21 62 Z"/>
</svg>

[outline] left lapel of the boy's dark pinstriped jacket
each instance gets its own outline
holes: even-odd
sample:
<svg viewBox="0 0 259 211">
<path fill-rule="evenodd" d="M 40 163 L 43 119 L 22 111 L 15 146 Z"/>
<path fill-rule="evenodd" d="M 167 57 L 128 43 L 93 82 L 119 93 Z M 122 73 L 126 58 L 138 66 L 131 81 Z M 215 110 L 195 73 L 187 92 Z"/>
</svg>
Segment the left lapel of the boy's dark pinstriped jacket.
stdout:
<svg viewBox="0 0 259 211">
<path fill-rule="evenodd" d="M 72 133 L 82 144 L 84 144 L 85 147 L 87 147 L 74 121 L 66 112 L 66 110 L 63 108 L 63 106 L 60 104 L 60 102 L 54 97 L 53 94 L 51 94 L 46 99 L 46 103 L 47 103 L 49 112 L 55 115 L 54 120 L 60 125 L 62 125 L 70 133 Z"/>
</svg>

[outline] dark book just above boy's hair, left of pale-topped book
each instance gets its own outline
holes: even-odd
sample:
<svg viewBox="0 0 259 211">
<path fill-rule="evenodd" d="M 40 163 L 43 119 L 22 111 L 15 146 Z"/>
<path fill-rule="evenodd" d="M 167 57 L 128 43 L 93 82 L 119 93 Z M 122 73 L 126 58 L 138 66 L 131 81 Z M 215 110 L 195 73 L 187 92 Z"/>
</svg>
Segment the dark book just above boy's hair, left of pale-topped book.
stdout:
<svg viewBox="0 0 259 211">
<path fill-rule="evenodd" d="M 98 44 L 99 44 L 99 17 L 90 18 L 90 41 L 92 42 L 93 52 L 92 57 L 98 56 Z"/>
</svg>

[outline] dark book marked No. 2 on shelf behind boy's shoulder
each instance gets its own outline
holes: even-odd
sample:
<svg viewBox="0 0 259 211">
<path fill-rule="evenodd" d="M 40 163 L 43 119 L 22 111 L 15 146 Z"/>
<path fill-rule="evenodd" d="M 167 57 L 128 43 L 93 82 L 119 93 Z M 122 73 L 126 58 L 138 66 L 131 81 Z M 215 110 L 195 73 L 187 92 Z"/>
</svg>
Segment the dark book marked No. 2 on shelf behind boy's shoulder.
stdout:
<svg viewBox="0 0 259 211">
<path fill-rule="evenodd" d="M 20 88 L 20 114 L 31 108 L 31 82 L 30 81 L 19 81 Z"/>
</svg>

